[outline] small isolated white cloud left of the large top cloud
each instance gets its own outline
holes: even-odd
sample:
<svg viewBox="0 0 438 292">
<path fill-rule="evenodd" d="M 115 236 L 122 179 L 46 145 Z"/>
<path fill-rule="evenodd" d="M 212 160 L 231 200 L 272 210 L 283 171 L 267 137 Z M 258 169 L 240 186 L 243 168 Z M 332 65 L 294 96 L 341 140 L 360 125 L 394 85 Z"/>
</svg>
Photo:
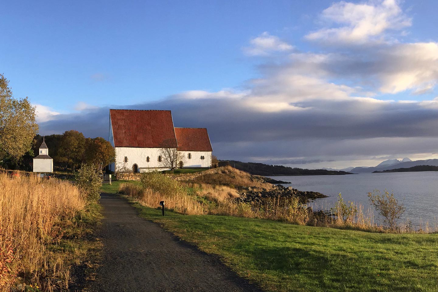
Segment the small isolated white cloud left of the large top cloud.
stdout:
<svg viewBox="0 0 438 292">
<path fill-rule="evenodd" d="M 258 37 L 251 39 L 250 44 L 251 46 L 244 48 L 244 52 L 250 56 L 266 56 L 273 52 L 285 52 L 293 49 L 292 45 L 268 32 L 263 32 Z"/>
</svg>

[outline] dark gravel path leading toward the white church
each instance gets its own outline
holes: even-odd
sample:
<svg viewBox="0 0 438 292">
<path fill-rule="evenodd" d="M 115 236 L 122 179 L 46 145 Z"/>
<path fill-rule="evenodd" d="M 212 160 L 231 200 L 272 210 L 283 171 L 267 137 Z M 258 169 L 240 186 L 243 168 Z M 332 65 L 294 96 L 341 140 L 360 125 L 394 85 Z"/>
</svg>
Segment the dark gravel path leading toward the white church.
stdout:
<svg viewBox="0 0 438 292">
<path fill-rule="evenodd" d="M 127 201 L 102 193 L 102 266 L 89 291 L 258 291 L 215 257 L 158 224 Z"/>
</svg>

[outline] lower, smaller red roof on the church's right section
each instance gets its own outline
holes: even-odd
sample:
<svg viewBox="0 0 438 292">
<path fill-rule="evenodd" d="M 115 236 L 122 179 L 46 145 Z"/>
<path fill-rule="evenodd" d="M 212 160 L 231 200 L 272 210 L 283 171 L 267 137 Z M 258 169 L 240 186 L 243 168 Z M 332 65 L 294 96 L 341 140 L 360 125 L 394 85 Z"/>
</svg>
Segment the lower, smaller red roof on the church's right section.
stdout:
<svg viewBox="0 0 438 292">
<path fill-rule="evenodd" d="M 180 151 L 213 151 L 206 128 L 175 128 Z"/>
</svg>

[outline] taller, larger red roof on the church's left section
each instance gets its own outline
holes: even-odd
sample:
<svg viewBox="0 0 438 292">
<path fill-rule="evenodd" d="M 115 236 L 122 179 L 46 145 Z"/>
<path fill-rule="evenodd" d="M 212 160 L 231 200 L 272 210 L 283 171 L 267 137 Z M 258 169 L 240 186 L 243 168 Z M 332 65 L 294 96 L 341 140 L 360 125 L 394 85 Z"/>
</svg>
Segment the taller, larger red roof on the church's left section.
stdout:
<svg viewBox="0 0 438 292">
<path fill-rule="evenodd" d="M 170 110 L 110 109 L 114 147 L 177 148 Z"/>
</svg>

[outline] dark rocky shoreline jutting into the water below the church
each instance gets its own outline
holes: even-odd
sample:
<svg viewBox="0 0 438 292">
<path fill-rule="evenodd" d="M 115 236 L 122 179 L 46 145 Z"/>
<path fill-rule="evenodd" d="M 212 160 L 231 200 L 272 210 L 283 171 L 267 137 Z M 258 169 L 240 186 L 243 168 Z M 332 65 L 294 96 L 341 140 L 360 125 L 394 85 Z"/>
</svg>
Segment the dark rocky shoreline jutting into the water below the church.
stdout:
<svg viewBox="0 0 438 292">
<path fill-rule="evenodd" d="M 235 200 L 237 202 L 257 202 L 263 203 L 263 201 L 277 199 L 277 198 L 291 198 L 298 197 L 300 199 L 300 203 L 307 203 L 314 199 L 326 198 L 328 196 L 318 193 L 318 192 L 304 192 L 301 190 L 294 189 L 293 187 L 284 187 L 281 184 L 276 185 L 273 190 L 262 190 L 255 191 L 252 190 L 251 187 L 244 189 L 242 193 L 240 193 L 240 197 L 237 197 Z"/>
</svg>

